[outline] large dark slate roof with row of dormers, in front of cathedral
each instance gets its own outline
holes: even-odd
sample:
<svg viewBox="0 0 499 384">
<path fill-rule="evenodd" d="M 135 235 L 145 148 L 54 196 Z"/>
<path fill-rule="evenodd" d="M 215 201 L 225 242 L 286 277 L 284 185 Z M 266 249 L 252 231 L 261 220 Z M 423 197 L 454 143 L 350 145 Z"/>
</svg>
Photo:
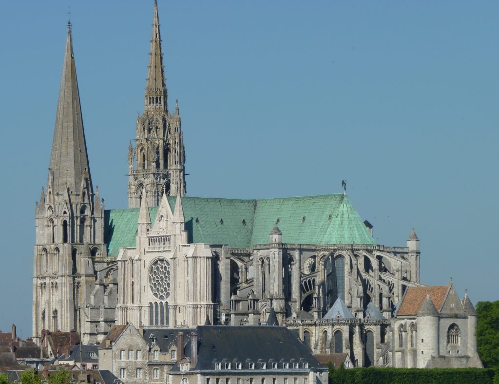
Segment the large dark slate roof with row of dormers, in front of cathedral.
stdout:
<svg viewBox="0 0 499 384">
<path fill-rule="evenodd" d="M 213 370 L 214 360 L 223 359 L 243 363 L 243 369 L 248 369 L 247 360 L 279 362 L 281 359 L 289 362 L 291 359 L 298 362 L 303 359 L 309 368 L 324 369 L 308 348 L 286 327 L 261 326 L 199 326 L 196 328 L 198 336 L 198 362 L 194 369 Z M 186 347 L 185 356 L 190 357 L 191 341 Z M 244 348 L 241 348 L 244 346 Z M 178 372 L 174 366 L 171 372 Z"/>
</svg>

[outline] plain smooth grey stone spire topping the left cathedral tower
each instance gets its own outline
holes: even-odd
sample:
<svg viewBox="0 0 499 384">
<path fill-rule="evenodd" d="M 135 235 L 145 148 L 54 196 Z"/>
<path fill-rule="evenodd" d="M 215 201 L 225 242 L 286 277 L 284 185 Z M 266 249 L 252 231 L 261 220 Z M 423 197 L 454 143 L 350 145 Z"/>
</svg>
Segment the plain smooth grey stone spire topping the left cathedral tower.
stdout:
<svg viewBox="0 0 499 384">
<path fill-rule="evenodd" d="M 66 50 L 49 169 L 53 175 L 54 192 L 66 191 L 66 188 L 73 192 L 79 191 L 82 176 L 86 172 L 89 184 L 92 185 L 76 80 L 70 21 L 67 23 Z"/>
</svg>

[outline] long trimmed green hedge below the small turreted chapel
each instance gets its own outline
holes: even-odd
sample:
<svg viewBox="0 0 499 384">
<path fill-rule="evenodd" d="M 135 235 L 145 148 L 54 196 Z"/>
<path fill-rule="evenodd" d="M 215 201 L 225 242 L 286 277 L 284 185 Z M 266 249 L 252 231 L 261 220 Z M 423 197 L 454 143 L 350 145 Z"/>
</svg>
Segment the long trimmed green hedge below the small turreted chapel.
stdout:
<svg viewBox="0 0 499 384">
<path fill-rule="evenodd" d="M 329 384 L 496 384 L 494 369 L 329 368 Z"/>
</svg>

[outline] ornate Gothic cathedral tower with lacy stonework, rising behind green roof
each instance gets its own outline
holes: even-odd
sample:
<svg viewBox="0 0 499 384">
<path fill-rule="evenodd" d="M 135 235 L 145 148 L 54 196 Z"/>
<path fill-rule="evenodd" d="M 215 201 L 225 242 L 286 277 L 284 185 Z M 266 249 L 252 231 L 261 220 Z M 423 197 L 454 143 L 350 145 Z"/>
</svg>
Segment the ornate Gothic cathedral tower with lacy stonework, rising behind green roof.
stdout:
<svg viewBox="0 0 499 384">
<path fill-rule="evenodd" d="M 149 206 L 159 205 L 163 190 L 167 195 L 185 195 L 184 137 L 178 102 L 173 115 L 168 111 L 156 1 L 144 112 L 137 117 L 134 141 L 135 148 L 131 142 L 128 147 L 128 206 L 140 206 L 144 188 Z"/>
</svg>

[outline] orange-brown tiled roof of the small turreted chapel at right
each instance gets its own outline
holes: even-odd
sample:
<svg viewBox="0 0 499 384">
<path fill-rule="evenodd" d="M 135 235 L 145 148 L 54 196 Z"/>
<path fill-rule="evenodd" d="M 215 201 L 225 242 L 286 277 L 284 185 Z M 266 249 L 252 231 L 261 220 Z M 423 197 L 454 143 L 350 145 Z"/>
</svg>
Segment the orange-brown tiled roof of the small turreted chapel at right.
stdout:
<svg viewBox="0 0 499 384">
<path fill-rule="evenodd" d="M 430 287 L 409 287 L 402 299 L 397 316 L 417 315 L 426 295 L 430 296 L 435 308 L 440 311 L 444 304 L 449 287 L 447 285 L 435 285 Z"/>
</svg>

